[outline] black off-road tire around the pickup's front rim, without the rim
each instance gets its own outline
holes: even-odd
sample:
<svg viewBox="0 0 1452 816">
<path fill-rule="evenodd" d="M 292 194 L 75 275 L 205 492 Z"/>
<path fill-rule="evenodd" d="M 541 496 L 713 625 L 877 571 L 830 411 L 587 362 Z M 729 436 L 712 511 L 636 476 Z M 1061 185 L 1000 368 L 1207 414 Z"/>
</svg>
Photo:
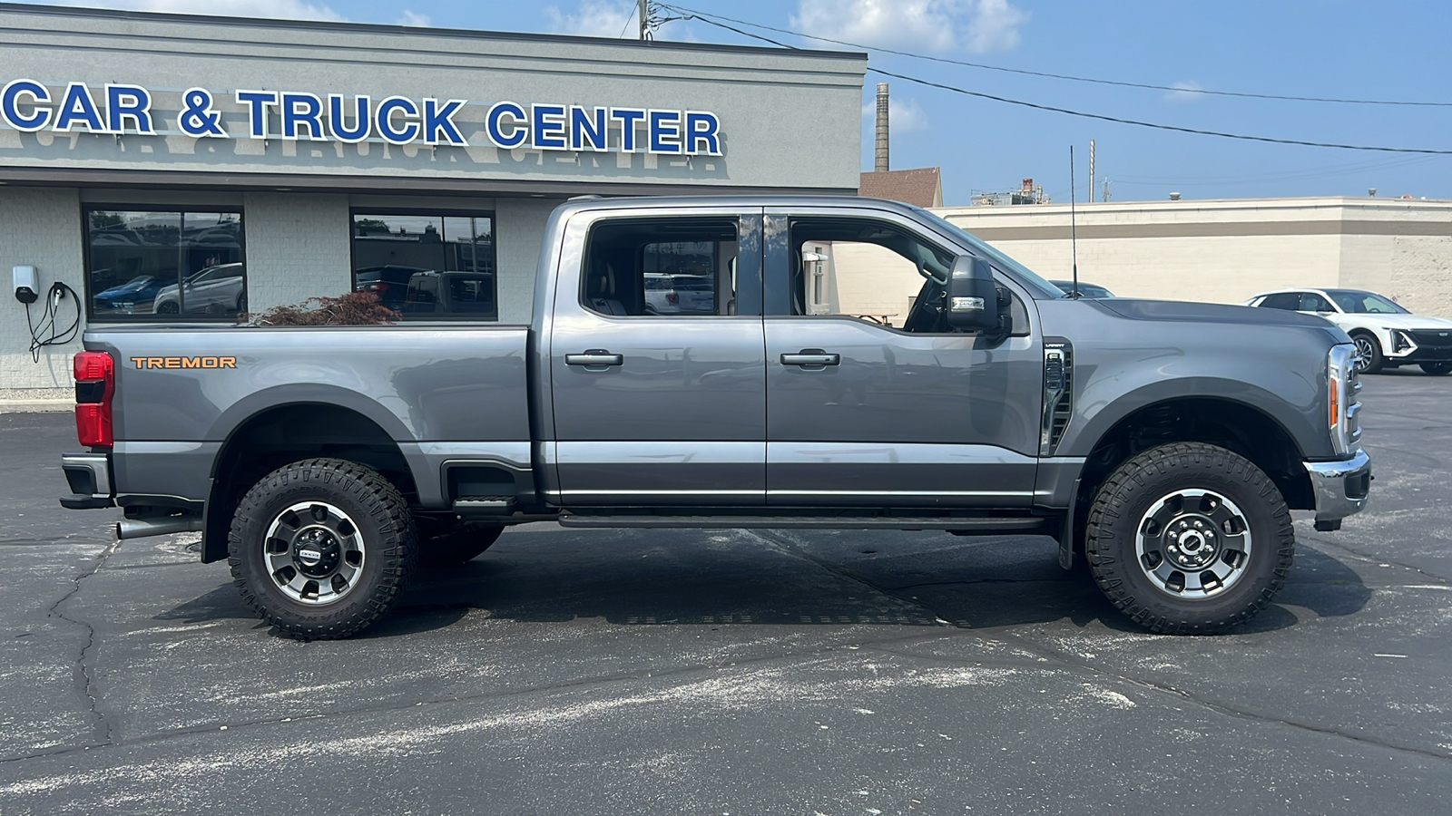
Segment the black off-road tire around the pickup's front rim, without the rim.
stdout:
<svg viewBox="0 0 1452 816">
<path fill-rule="evenodd" d="M 1208 597 L 1175 597 L 1141 566 L 1138 526 L 1165 497 L 1212 491 L 1239 507 L 1252 544 L 1236 581 Z M 1249 460 L 1212 444 L 1172 443 L 1115 469 L 1089 508 L 1085 552 L 1099 589 L 1134 623 L 1162 635 L 1214 635 L 1270 604 L 1295 555 L 1291 513 L 1275 482 Z"/>
</svg>

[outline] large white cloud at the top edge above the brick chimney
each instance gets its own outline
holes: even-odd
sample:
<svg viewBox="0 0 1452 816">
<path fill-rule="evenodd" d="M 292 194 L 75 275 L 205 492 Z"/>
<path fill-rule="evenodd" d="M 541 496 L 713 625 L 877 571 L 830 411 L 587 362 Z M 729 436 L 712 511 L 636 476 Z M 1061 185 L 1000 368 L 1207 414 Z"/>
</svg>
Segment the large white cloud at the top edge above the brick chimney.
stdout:
<svg viewBox="0 0 1452 816">
<path fill-rule="evenodd" d="M 791 28 L 900 51 L 1011 51 L 1028 12 L 1009 0 L 797 0 Z"/>
</svg>

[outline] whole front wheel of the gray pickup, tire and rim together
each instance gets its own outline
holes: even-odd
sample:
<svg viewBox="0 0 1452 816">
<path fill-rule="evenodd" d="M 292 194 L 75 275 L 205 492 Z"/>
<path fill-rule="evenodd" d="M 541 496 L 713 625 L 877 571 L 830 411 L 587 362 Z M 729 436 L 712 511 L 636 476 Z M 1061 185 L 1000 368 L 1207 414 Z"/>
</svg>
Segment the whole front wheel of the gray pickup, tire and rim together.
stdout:
<svg viewBox="0 0 1452 816">
<path fill-rule="evenodd" d="M 1109 475 L 1089 508 L 1085 552 L 1099 589 L 1140 626 L 1210 635 L 1270 604 L 1295 531 L 1281 491 L 1253 463 L 1175 443 Z"/>
</svg>

